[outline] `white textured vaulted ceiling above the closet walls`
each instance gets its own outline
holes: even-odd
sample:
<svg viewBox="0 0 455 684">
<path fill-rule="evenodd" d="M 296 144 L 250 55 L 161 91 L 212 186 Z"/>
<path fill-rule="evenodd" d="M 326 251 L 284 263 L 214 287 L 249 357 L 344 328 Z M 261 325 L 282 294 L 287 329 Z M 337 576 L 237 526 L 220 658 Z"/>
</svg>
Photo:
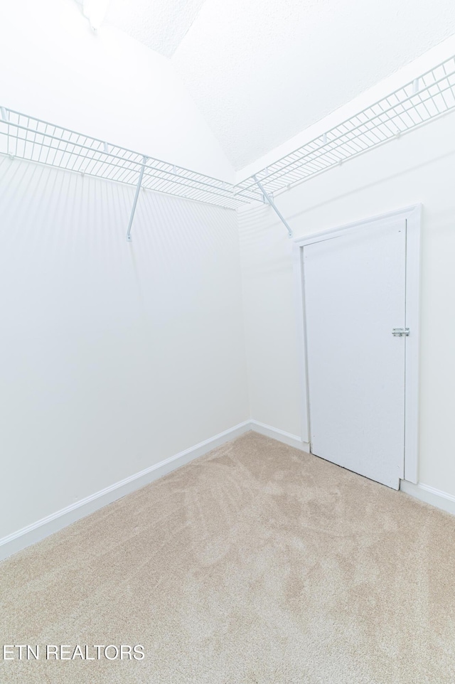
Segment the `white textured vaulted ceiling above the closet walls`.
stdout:
<svg viewBox="0 0 455 684">
<path fill-rule="evenodd" d="M 235 169 L 455 33 L 453 0 L 111 0 L 171 58 Z"/>
</svg>

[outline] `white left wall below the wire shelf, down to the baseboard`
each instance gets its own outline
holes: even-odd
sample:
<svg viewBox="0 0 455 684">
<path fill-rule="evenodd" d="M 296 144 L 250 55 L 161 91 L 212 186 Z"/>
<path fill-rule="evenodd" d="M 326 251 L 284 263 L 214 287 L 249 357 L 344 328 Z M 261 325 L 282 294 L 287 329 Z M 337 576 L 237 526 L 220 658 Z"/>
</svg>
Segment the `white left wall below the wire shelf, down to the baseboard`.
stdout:
<svg viewBox="0 0 455 684">
<path fill-rule="evenodd" d="M 0 158 L 0 538 L 249 417 L 235 212 Z"/>
</svg>

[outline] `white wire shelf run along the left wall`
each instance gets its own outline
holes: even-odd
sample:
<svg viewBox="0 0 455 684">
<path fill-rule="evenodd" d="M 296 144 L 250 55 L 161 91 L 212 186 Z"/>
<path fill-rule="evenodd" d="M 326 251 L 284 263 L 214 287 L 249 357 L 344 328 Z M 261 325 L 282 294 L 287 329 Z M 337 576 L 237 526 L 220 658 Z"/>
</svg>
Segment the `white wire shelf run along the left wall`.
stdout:
<svg viewBox="0 0 455 684">
<path fill-rule="evenodd" d="M 108 144 L 27 114 L 0 108 L 0 153 L 76 171 L 87 176 L 137 186 L 193 201 L 235 209 L 249 202 L 249 193 L 234 193 L 230 183 L 182 166 Z"/>
</svg>

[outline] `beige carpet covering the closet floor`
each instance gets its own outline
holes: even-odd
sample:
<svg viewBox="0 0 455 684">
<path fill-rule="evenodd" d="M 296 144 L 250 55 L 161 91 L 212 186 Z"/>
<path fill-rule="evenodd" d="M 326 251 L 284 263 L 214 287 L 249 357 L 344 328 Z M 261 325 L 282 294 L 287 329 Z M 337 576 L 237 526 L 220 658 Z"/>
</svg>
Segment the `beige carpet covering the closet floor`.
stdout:
<svg viewBox="0 0 455 684">
<path fill-rule="evenodd" d="M 0 643 L 144 659 L 0 682 L 453 684 L 454 580 L 455 518 L 250 432 L 0 565 Z"/>
</svg>

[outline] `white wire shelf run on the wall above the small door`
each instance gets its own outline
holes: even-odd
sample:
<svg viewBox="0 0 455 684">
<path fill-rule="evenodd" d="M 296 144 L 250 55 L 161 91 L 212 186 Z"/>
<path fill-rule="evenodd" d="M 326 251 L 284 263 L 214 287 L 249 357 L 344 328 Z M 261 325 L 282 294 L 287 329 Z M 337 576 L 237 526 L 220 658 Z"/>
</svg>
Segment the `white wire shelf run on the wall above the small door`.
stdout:
<svg viewBox="0 0 455 684">
<path fill-rule="evenodd" d="M 302 183 L 455 108 L 455 56 L 235 186 L 261 200 Z"/>
</svg>

